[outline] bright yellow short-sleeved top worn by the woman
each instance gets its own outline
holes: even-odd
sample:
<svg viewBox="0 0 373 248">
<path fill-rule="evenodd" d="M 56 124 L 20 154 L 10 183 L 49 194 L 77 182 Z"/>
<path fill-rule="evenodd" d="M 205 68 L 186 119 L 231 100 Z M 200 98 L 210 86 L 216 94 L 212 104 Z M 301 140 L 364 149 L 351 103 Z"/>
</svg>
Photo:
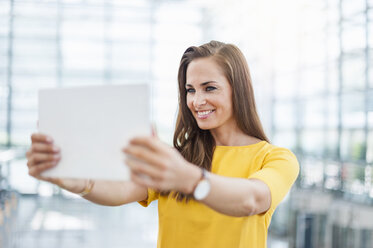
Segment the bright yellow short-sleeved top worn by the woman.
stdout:
<svg viewBox="0 0 373 248">
<path fill-rule="evenodd" d="M 271 191 L 270 209 L 263 214 L 231 217 L 220 214 L 194 200 L 177 202 L 148 190 L 148 206 L 158 199 L 160 248 L 262 248 L 266 247 L 267 230 L 277 205 L 290 190 L 299 173 L 293 153 L 261 141 L 248 146 L 217 146 L 212 173 L 241 178 L 256 178 Z"/>
</svg>

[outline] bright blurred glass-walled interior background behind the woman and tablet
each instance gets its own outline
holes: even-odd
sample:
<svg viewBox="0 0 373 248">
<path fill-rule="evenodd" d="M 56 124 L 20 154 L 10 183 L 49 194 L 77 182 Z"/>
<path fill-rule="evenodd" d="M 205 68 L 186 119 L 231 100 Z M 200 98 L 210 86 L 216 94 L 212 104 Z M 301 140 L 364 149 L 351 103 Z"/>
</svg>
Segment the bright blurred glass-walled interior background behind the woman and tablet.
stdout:
<svg viewBox="0 0 373 248">
<path fill-rule="evenodd" d="M 32 179 L 45 87 L 149 83 L 171 144 L 184 50 L 234 43 L 273 144 L 301 165 L 270 248 L 373 247 L 372 0 L 0 0 L 0 247 L 156 247 L 157 205 L 102 207 Z"/>
</svg>

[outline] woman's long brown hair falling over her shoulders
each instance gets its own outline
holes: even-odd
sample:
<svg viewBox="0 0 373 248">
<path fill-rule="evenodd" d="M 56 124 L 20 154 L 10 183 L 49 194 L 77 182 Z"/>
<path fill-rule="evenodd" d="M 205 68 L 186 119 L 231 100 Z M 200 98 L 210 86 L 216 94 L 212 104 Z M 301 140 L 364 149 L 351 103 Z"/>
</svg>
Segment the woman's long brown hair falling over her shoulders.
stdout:
<svg viewBox="0 0 373 248">
<path fill-rule="evenodd" d="M 269 142 L 260 122 L 249 67 L 240 49 L 232 44 L 211 41 L 202 46 L 189 47 L 183 54 L 179 72 L 179 108 L 174 133 L 174 146 L 189 162 L 211 171 L 215 140 L 209 130 L 198 127 L 187 106 L 186 72 L 188 65 L 197 58 L 213 58 L 223 69 L 232 88 L 233 116 L 238 127 L 247 135 Z M 167 194 L 165 192 L 165 194 Z M 176 193 L 177 200 L 192 196 Z"/>
</svg>

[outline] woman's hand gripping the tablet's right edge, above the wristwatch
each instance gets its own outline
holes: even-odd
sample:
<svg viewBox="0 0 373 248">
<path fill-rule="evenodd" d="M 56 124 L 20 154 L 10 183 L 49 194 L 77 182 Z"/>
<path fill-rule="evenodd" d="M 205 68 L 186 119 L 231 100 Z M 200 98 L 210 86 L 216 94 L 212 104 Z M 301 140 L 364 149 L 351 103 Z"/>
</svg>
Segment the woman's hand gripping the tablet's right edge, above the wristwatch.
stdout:
<svg viewBox="0 0 373 248">
<path fill-rule="evenodd" d="M 136 137 L 123 151 L 131 180 L 142 186 L 189 194 L 201 176 L 200 169 L 156 137 Z"/>
</svg>

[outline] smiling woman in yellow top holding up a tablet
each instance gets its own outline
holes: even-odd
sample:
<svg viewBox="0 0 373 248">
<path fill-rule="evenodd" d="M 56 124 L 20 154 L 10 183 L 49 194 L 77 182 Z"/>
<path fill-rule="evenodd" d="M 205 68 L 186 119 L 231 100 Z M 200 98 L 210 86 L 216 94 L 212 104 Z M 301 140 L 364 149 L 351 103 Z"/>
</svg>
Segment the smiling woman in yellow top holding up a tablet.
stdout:
<svg viewBox="0 0 373 248">
<path fill-rule="evenodd" d="M 59 149 L 32 135 L 29 174 L 102 205 L 158 200 L 158 247 L 266 247 L 277 205 L 299 166 L 263 132 L 246 60 L 234 45 L 188 48 L 179 73 L 174 148 L 135 137 L 123 149 L 131 181 L 43 178 Z"/>
</svg>

